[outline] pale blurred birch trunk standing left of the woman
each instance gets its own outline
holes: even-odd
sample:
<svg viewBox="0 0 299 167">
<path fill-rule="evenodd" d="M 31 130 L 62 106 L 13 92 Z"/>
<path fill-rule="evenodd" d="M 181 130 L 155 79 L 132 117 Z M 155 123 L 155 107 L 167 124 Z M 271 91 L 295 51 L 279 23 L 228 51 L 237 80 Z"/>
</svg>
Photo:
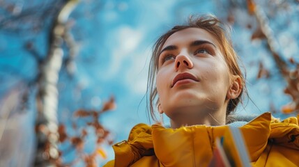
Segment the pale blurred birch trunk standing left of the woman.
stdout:
<svg viewBox="0 0 299 167">
<path fill-rule="evenodd" d="M 40 65 L 38 94 L 36 96 L 36 141 L 38 148 L 34 166 L 56 166 L 59 157 L 57 142 L 59 141 L 57 107 L 57 82 L 63 60 L 63 42 L 66 34 L 66 22 L 78 0 L 67 1 L 59 11 L 50 32 L 47 58 Z"/>
</svg>

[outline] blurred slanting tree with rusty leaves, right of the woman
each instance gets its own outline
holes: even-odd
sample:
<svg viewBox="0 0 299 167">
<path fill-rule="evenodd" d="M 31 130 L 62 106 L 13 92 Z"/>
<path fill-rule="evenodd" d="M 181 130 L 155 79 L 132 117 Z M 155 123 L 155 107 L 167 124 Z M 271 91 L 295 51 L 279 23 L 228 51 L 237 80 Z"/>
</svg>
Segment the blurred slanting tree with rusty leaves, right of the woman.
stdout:
<svg viewBox="0 0 299 167">
<path fill-rule="evenodd" d="M 262 3 L 259 1 L 259 3 Z M 229 11 L 229 17 L 227 18 L 228 22 L 236 22 L 237 17 L 247 17 L 247 18 L 238 18 L 238 20 L 248 20 L 250 19 L 250 24 L 247 24 L 248 29 L 251 29 L 252 26 L 255 27 L 255 31 L 252 33 L 251 40 L 265 40 L 266 45 L 263 45 L 268 49 L 269 55 L 273 58 L 277 71 L 280 76 L 286 82 L 286 88 L 284 88 L 284 93 L 290 95 L 292 101 L 289 104 L 282 106 L 282 113 L 299 113 L 299 63 L 290 58 L 286 60 L 281 51 L 279 51 L 279 42 L 275 38 L 275 32 L 271 29 L 270 20 L 268 15 L 265 13 L 266 8 L 262 8 L 257 1 L 247 0 L 247 3 L 244 1 L 230 0 L 229 5 L 226 6 L 226 9 Z M 286 12 L 293 3 L 296 1 L 264 1 L 264 6 L 268 6 L 267 10 L 271 10 L 271 13 Z M 297 2 L 298 3 L 298 2 Z M 242 13 L 247 13 L 243 15 L 233 15 L 233 10 L 242 10 Z M 239 12 L 240 14 L 240 12 Z M 247 15 L 247 16 L 246 16 Z M 253 22 L 252 22 L 253 21 Z M 241 23 L 239 23 L 241 24 Z M 292 41 L 296 42 L 296 41 Z M 296 55 L 293 55 L 296 56 Z M 261 61 L 259 62 L 259 72 L 257 74 L 257 79 L 261 77 L 266 77 L 269 79 L 271 74 L 269 70 L 264 67 Z M 270 104 L 270 106 L 273 106 Z M 273 107 L 272 107 L 273 108 Z M 271 109 L 273 112 L 276 112 L 276 109 Z"/>
</svg>

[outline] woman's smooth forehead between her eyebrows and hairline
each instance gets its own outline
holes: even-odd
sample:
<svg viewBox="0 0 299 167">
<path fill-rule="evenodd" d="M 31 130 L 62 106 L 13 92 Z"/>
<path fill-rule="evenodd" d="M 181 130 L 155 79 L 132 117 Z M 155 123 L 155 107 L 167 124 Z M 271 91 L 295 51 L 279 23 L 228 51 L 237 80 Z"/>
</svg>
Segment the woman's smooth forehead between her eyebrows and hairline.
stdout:
<svg viewBox="0 0 299 167">
<path fill-rule="evenodd" d="M 219 42 L 208 31 L 199 28 L 187 28 L 170 35 L 164 42 L 162 49 L 169 45 L 185 45 L 195 40 L 206 40 L 219 48 Z"/>
</svg>

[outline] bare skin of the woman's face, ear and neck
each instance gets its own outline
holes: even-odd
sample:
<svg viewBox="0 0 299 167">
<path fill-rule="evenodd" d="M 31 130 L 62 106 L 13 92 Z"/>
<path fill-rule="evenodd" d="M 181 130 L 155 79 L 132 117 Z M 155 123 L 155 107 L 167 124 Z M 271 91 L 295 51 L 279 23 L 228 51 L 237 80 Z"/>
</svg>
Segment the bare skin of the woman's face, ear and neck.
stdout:
<svg viewBox="0 0 299 167">
<path fill-rule="evenodd" d="M 229 73 L 219 46 L 213 35 L 198 28 L 178 31 L 162 46 L 158 110 L 170 118 L 171 127 L 225 124 L 227 104 L 238 97 L 241 84 L 240 77 Z M 178 74 L 193 78 L 174 84 Z"/>
</svg>

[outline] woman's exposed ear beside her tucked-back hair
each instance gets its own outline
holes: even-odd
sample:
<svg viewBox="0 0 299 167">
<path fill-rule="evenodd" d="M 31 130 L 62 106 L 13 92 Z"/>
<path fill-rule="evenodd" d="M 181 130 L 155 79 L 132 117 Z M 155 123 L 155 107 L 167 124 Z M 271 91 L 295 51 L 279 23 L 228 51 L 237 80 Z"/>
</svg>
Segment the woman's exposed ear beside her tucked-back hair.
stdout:
<svg viewBox="0 0 299 167">
<path fill-rule="evenodd" d="M 227 99 L 236 99 L 240 95 L 242 88 L 241 77 L 234 75 L 229 91 L 227 92 Z"/>
</svg>

